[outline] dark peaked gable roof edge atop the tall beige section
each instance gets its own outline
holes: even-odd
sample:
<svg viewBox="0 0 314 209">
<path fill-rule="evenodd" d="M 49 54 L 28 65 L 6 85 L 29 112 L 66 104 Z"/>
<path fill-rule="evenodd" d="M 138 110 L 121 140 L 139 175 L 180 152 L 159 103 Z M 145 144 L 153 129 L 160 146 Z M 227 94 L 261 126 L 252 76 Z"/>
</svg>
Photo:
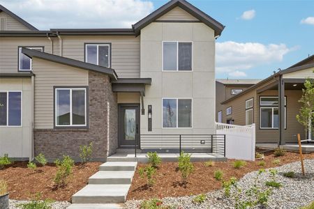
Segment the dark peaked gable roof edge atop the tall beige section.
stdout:
<svg viewBox="0 0 314 209">
<path fill-rule="evenodd" d="M 190 13 L 190 15 L 193 15 L 198 20 L 206 24 L 207 26 L 211 27 L 211 29 L 214 29 L 215 36 L 220 36 L 221 32 L 225 28 L 223 24 L 218 22 L 217 20 L 214 20 L 214 18 L 210 17 L 206 13 L 203 13 L 201 10 L 193 6 L 192 4 L 188 3 L 185 0 L 171 0 L 165 5 L 161 6 L 157 10 L 155 10 L 153 13 L 147 15 L 147 17 L 144 17 L 139 22 L 133 24 L 133 29 L 135 31 L 135 34 L 138 36 L 140 34 L 140 30 L 143 29 L 145 26 L 150 24 L 151 22 L 154 22 L 159 17 L 165 15 L 165 13 L 169 12 L 173 8 L 179 6 L 180 8 L 186 10 L 186 12 Z"/>
</svg>

